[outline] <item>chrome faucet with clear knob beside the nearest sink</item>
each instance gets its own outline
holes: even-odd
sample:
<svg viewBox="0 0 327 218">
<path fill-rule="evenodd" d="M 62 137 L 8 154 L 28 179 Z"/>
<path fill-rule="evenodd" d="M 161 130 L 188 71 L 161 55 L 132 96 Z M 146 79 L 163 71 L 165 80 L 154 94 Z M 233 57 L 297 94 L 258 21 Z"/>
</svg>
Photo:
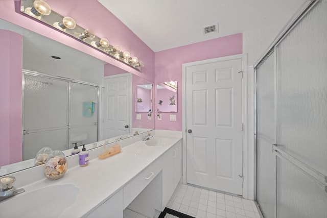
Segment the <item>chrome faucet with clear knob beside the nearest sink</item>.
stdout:
<svg viewBox="0 0 327 218">
<path fill-rule="evenodd" d="M 16 178 L 13 176 L 0 178 L 0 201 L 6 200 L 7 198 L 13 197 L 25 191 L 23 188 L 16 189 L 14 186 L 12 186 L 15 180 Z"/>
</svg>

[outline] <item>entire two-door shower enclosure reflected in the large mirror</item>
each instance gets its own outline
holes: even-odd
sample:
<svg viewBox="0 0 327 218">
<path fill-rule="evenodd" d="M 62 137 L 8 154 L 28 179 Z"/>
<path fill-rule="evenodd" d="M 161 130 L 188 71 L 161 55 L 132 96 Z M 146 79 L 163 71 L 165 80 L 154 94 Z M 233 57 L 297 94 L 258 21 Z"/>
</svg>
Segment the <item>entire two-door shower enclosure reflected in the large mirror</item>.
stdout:
<svg viewBox="0 0 327 218">
<path fill-rule="evenodd" d="M 23 70 L 23 160 L 98 141 L 99 86 Z"/>
</svg>

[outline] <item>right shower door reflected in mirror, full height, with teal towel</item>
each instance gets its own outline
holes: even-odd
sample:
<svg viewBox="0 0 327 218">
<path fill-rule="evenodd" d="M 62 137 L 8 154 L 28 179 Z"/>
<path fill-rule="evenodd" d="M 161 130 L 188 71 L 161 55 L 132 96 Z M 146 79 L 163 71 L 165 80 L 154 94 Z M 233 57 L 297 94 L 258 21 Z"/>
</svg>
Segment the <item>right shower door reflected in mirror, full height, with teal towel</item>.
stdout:
<svg viewBox="0 0 327 218">
<path fill-rule="evenodd" d="M 71 82 L 70 111 L 69 148 L 98 141 L 98 87 Z"/>
</svg>

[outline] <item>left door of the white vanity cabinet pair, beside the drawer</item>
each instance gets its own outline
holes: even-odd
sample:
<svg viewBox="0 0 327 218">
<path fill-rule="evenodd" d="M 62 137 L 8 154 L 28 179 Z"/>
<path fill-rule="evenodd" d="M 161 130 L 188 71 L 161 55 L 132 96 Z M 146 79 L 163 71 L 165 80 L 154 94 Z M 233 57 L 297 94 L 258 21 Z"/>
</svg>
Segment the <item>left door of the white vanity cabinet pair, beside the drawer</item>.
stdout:
<svg viewBox="0 0 327 218">
<path fill-rule="evenodd" d="M 174 155 L 175 147 L 172 147 L 163 155 L 162 162 L 162 210 L 165 209 L 169 199 L 175 190 L 174 182 Z"/>
</svg>

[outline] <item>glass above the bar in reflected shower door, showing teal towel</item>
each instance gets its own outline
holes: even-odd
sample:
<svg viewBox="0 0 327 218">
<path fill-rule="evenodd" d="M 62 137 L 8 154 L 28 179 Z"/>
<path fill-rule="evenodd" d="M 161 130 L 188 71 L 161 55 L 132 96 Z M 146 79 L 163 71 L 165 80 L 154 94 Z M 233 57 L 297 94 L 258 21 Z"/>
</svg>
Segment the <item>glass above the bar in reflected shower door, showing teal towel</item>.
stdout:
<svg viewBox="0 0 327 218">
<path fill-rule="evenodd" d="M 71 83 L 71 125 L 98 122 L 98 87 Z"/>
</svg>

